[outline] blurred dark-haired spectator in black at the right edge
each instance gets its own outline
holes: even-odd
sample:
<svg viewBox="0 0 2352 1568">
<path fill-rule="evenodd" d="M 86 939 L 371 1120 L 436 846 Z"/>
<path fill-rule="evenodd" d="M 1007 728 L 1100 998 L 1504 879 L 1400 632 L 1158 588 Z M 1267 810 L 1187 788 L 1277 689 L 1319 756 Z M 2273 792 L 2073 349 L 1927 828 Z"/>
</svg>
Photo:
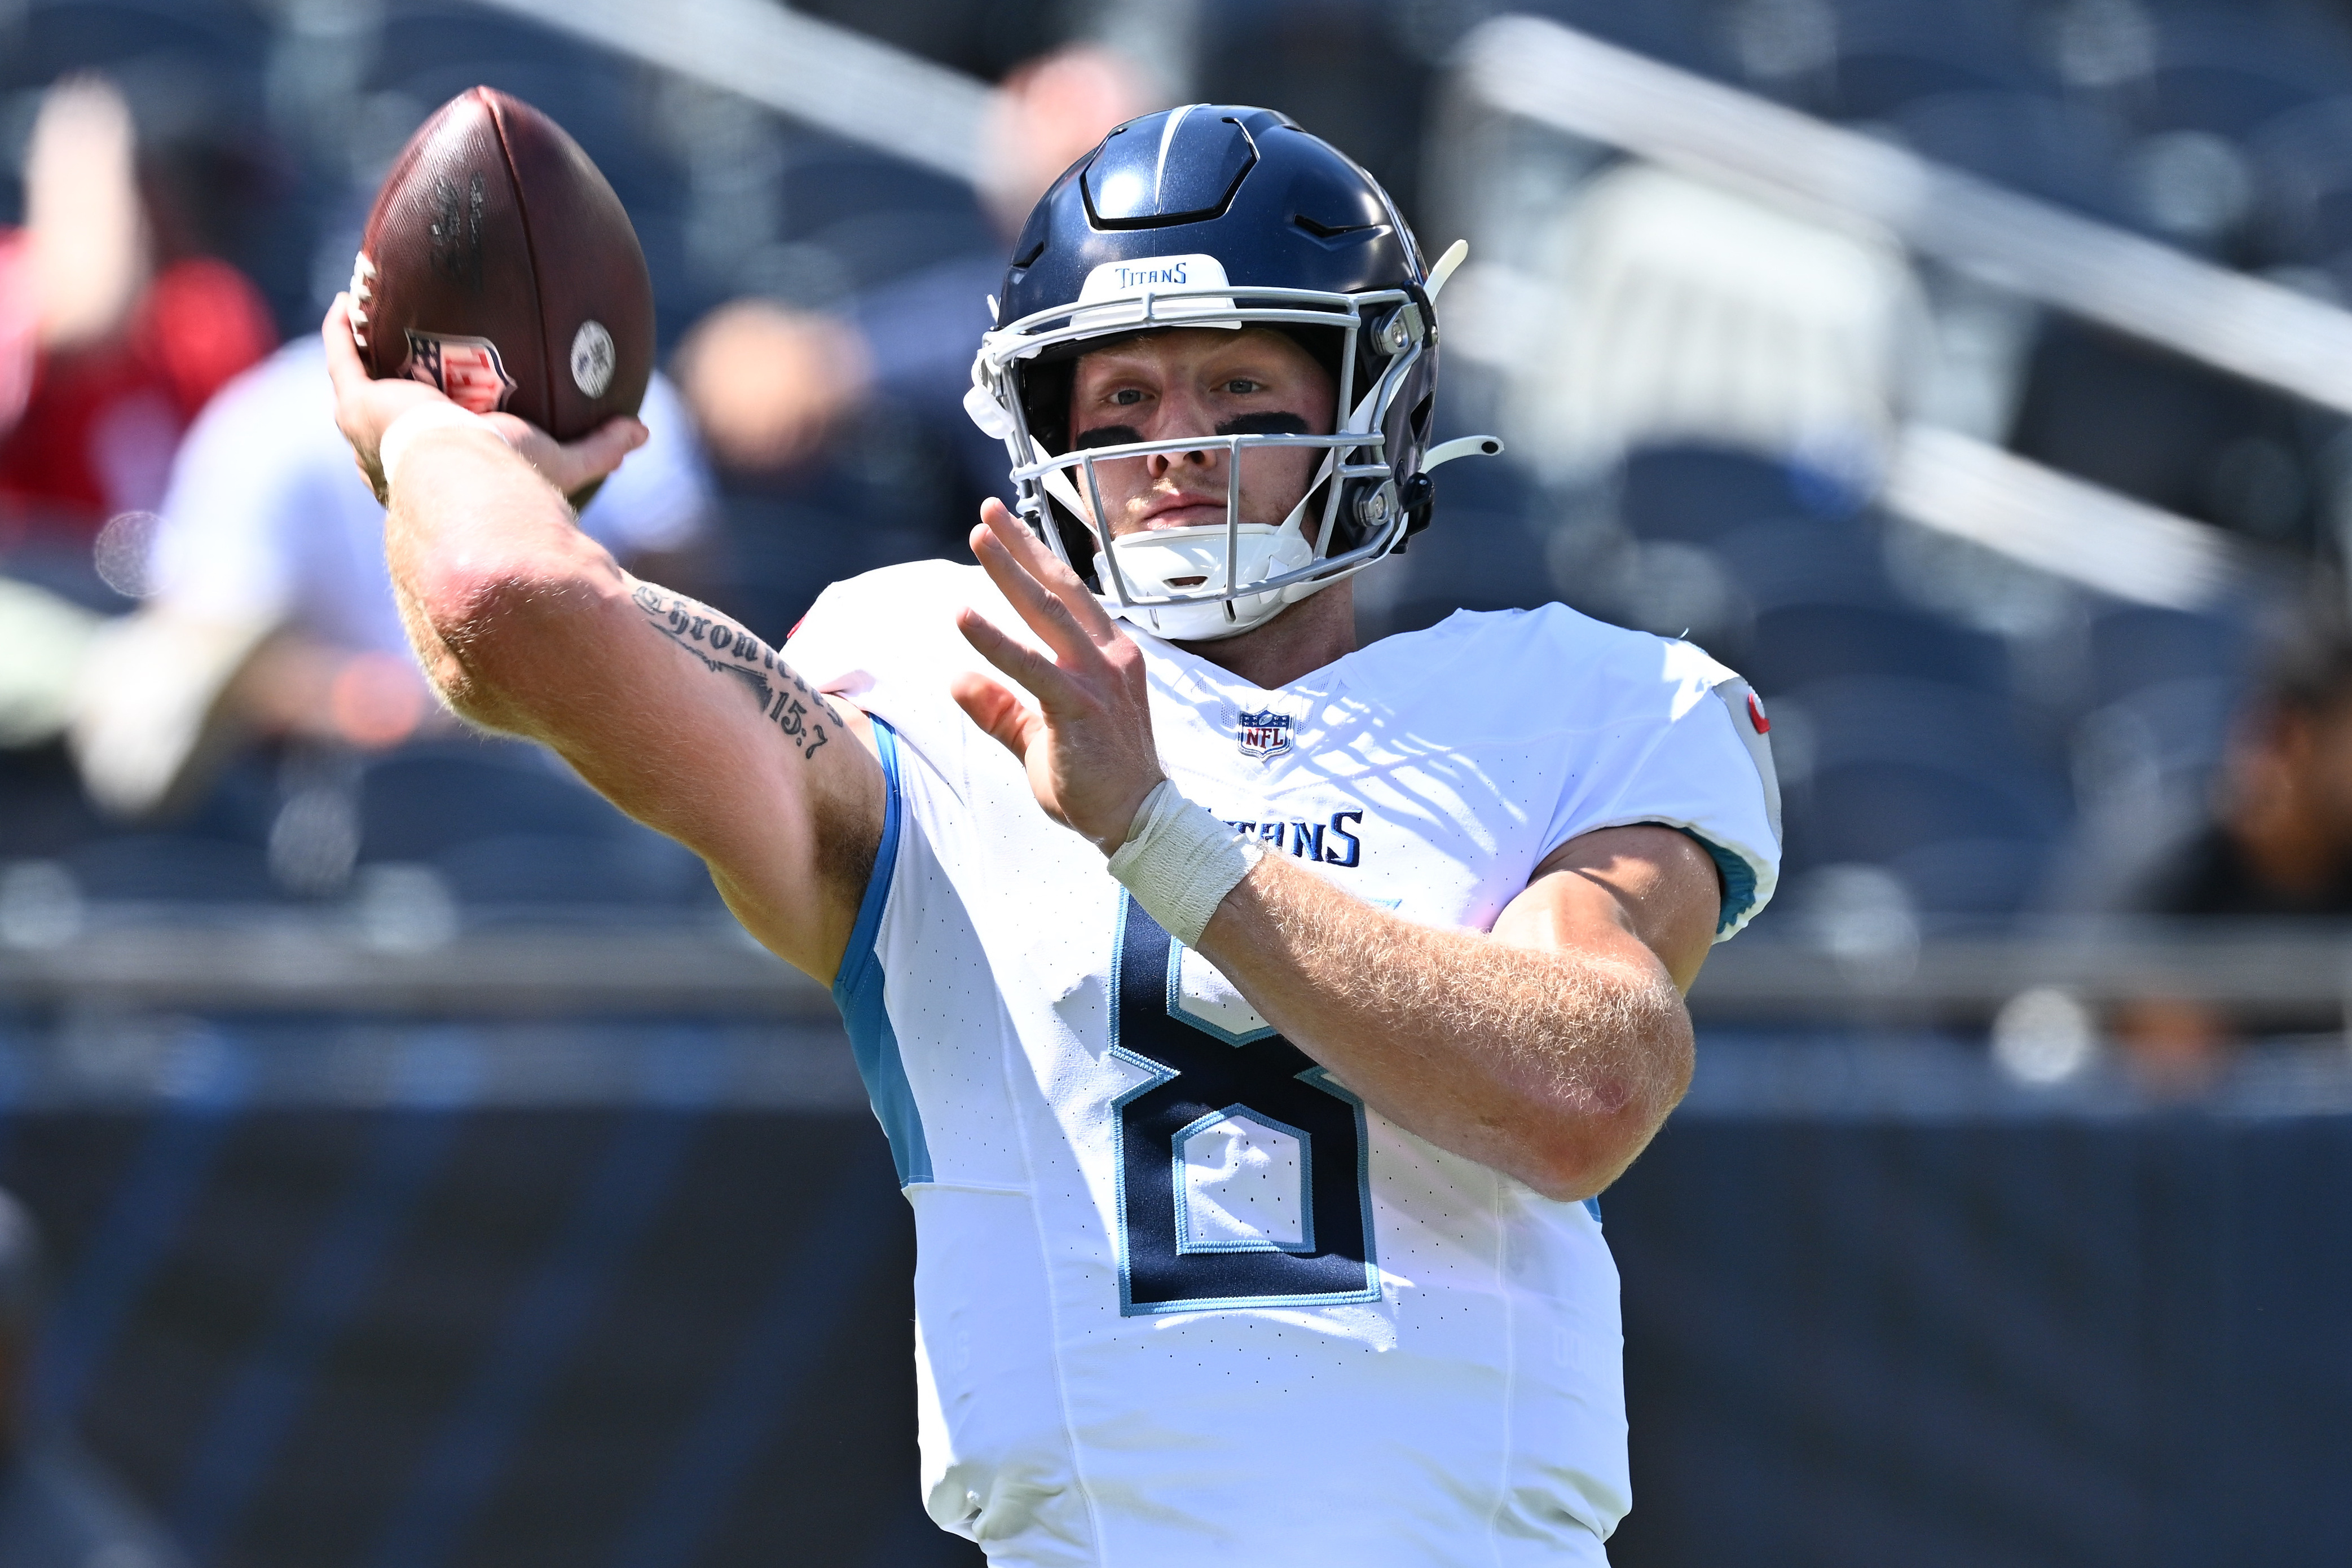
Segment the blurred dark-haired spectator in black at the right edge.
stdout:
<svg viewBox="0 0 2352 1568">
<path fill-rule="evenodd" d="M 2147 870 L 2136 914 L 2352 919 L 2352 630 L 2307 632 L 2246 705 L 2211 813 Z M 2201 1001 L 2124 1004 L 2117 1041 L 2159 1091 L 2190 1093 L 2227 1063 L 2237 1030 Z"/>
</svg>

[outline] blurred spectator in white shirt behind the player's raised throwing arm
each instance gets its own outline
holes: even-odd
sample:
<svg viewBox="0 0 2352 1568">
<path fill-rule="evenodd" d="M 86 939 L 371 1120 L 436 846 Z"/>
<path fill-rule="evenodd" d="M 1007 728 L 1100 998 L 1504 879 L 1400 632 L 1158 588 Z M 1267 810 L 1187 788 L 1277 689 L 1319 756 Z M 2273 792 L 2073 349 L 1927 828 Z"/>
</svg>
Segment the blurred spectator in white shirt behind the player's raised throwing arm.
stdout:
<svg viewBox="0 0 2352 1568">
<path fill-rule="evenodd" d="M 710 477 L 663 376 L 642 416 L 652 437 L 581 527 L 663 581 L 691 578 L 680 555 L 706 529 Z M 381 750 L 454 724 L 400 625 L 383 508 L 334 428 L 315 339 L 223 388 L 172 465 L 153 538 L 101 538 L 99 555 L 148 599 L 80 672 L 73 748 L 115 813 L 176 804 L 245 736 Z"/>
</svg>

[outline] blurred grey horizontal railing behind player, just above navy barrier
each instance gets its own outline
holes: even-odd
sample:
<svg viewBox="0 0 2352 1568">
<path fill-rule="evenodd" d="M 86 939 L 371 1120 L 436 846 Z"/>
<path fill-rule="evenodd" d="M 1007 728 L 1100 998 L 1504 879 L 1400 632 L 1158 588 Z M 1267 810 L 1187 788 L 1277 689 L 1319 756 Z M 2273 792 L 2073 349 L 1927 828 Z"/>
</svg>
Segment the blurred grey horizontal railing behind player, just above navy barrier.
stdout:
<svg viewBox="0 0 2352 1568">
<path fill-rule="evenodd" d="M 405 1018 L 741 1018 L 830 1025 L 833 997 L 713 917 L 477 924 L 430 947 L 270 910 L 92 905 L 82 929 L 0 945 L 0 1009 Z M 2206 1001 L 2246 1027 L 2340 1027 L 2352 926 L 2053 922 L 1886 943 L 1752 933 L 1708 959 L 1700 1025 L 1983 1027 L 2020 992 L 2086 1006 Z"/>
</svg>

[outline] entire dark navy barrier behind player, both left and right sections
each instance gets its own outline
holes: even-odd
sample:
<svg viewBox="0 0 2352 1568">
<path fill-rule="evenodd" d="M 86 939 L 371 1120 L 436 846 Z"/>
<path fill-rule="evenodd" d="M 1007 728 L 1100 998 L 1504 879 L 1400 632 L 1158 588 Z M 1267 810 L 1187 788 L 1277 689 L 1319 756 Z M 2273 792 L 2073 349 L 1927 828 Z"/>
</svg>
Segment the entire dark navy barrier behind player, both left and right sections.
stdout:
<svg viewBox="0 0 2352 1568">
<path fill-rule="evenodd" d="M 1618 1568 L 2343 1561 L 2340 1046 L 2197 1110 L 1700 1056 L 1604 1199 Z M 917 1507 L 910 1227 L 830 1025 L 19 1025 L 0 1093 L 35 1406 L 200 1563 L 976 1561 Z"/>
</svg>

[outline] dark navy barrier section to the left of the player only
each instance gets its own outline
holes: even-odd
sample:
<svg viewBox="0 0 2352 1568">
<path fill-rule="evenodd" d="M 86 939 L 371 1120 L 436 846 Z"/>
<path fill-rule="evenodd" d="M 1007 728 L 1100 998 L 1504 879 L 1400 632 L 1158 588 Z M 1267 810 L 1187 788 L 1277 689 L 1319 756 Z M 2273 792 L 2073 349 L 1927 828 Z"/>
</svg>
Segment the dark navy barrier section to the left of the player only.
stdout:
<svg viewBox="0 0 2352 1568">
<path fill-rule="evenodd" d="M 837 1065 L 828 1065 L 837 1063 Z M 826 1027 L 0 1027 L 33 1373 L 200 1563 L 976 1563 Z"/>
</svg>

